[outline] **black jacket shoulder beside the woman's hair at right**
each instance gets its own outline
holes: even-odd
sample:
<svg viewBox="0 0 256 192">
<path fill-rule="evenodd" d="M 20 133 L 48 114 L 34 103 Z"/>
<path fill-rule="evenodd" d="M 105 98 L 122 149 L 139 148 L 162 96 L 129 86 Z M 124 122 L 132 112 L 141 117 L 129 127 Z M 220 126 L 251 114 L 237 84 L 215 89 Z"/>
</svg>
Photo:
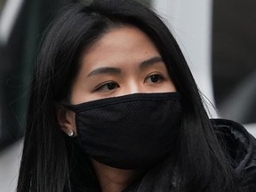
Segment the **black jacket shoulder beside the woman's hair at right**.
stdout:
<svg viewBox="0 0 256 192">
<path fill-rule="evenodd" d="M 212 127 L 225 146 L 234 172 L 248 191 L 256 191 L 256 140 L 243 125 L 227 119 L 211 119 Z"/>
</svg>

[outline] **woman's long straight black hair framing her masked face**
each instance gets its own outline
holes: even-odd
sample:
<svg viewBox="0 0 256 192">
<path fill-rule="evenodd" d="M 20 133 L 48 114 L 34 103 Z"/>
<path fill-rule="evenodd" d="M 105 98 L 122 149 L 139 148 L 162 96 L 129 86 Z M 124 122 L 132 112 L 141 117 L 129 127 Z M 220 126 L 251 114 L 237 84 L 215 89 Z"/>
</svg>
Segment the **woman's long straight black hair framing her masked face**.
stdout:
<svg viewBox="0 0 256 192">
<path fill-rule="evenodd" d="M 145 172 L 125 190 L 236 191 L 231 165 L 179 45 L 156 12 L 131 0 L 69 5 L 46 29 L 31 84 L 17 191 L 100 191 L 87 156 L 61 131 L 56 103 L 68 100 L 82 52 L 109 28 L 126 24 L 140 28 L 154 42 L 182 94 L 184 111 L 175 156 Z"/>
</svg>

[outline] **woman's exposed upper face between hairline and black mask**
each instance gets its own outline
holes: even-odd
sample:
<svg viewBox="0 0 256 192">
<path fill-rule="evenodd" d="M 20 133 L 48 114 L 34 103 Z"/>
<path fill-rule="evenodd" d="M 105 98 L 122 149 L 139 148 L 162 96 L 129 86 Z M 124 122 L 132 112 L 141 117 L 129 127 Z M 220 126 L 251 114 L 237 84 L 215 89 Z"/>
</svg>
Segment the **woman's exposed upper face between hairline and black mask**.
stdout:
<svg viewBox="0 0 256 192">
<path fill-rule="evenodd" d="M 156 46 L 138 28 L 110 29 L 82 55 L 71 88 L 79 104 L 137 92 L 175 92 Z"/>
</svg>

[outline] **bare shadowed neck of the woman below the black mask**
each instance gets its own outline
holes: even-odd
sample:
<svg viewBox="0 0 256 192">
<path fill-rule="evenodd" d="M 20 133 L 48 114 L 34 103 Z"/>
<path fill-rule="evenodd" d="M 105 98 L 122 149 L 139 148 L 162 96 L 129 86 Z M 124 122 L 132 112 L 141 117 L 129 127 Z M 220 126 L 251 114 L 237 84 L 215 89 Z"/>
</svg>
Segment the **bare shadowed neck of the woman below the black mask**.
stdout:
<svg viewBox="0 0 256 192">
<path fill-rule="evenodd" d="M 134 170 L 122 170 L 100 164 L 92 159 L 94 170 L 100 182 L 102 192 L 121 192 L 136 178 Z"/>
</svg>

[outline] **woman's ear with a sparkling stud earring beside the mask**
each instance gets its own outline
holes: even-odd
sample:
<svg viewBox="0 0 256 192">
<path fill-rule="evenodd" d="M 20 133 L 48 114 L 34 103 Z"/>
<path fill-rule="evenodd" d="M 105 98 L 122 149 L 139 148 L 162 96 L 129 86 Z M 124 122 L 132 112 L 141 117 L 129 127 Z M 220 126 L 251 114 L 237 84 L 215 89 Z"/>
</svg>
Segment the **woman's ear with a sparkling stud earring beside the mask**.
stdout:
<svg viewBox="0 0 256 192">
<path fill-rule="evenodd" d="M 76 136 L 76 118 L 75 113 L 68 108 L 64 108 L 61 105 L 56 107 L 57 110 L 57 118 L 60 124 L 60 128 L 63 132 L 68 134 L 71 130 L 75 132 Z"/>
</svg>

